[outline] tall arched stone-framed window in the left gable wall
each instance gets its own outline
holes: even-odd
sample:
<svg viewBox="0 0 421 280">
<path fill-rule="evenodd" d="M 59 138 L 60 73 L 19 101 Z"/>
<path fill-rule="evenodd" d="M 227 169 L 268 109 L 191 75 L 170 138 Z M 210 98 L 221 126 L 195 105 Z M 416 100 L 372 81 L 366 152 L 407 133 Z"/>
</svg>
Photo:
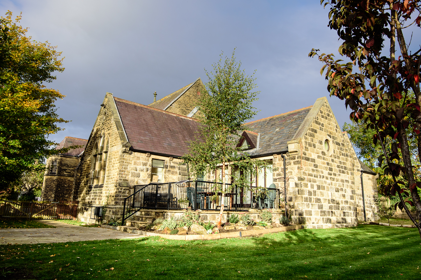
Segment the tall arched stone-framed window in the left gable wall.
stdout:
<svg viewBox="0 0 421 280">
<path fill-rule="evenodd" d="M 105 170 L 107 168 L 107 157 L 108 157 L 108 144 L 104 147 L 105 136 L 101 137 L 101 141 L 96 143 L 93 148 L 93 170 L 91 175 L 91 185 L 104 184 L 105 182 Z"/>
</svg>

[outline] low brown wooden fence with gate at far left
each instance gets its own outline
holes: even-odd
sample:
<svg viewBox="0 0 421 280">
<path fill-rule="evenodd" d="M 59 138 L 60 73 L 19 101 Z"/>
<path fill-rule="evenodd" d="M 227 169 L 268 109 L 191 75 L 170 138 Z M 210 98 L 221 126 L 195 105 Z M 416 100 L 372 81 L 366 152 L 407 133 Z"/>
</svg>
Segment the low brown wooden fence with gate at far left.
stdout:
<svg viewBox="0 0 421 280">
<path fill-rule="evenodd" d="M 0 201 L 0 217 L 27 219 L 76 219 L 77 201 Z"/>
</svg>

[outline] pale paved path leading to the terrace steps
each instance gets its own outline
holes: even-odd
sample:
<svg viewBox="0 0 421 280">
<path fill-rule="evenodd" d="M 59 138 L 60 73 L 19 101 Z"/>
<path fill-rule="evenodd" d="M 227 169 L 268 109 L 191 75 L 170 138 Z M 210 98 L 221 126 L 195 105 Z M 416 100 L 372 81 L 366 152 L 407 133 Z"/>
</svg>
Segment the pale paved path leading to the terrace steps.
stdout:
<svg viewBox="0 0 421 280">
<path fill-rule="evenodd" d="M 103 227 L 81 227 L 54 220 L 39 222 L 56 228 L 2 228 L 0 229 L 0 244 L 59 243 L 140 237 L 138 234 Z"/>
</svg>

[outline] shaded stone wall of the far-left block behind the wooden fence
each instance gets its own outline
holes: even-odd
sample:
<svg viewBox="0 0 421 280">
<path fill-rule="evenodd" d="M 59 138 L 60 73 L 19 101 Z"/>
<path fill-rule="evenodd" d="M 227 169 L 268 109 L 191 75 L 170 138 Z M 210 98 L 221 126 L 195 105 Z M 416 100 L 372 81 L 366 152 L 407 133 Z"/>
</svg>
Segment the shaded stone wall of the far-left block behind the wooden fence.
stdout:
<svg viewBox="0 0 421 280">
<path fill-rule="evenodd" d="M 73 200 L 73 181 L 75 169 L 79 162 L 80 158 L 66 155 L 54 155 L 47 159 L 41 194 L 42 200 Z"/>
</svg>

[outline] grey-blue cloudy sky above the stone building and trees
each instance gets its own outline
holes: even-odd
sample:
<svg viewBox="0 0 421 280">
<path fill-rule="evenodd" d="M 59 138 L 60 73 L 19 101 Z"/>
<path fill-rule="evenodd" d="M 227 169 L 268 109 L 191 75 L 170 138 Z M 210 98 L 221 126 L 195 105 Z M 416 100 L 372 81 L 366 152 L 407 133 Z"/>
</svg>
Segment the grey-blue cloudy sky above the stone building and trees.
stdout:
<svg viewBox="0 0 421 280">
<path fill-rule="evenodd" d="M 328 96 L 321 63 L 312 48 L 337 53 L 320 1 L 8 1 L 2 13 L 18 15 L 34 40 L 48 40 L 63 52 L 63 73 L 47 84 L 66 95 L 58 114 L 72 122 L 50 138 L 88 139 L 105 93 L 149 104 L 201 77 L 221 51 L 248 74 L 256 71 L 255 119 L 310 106 Z M 419 29 L 416 30 L 418 32 Z M 419 36 L 412 44 L 421 42 Z M 328 97 L 339 125 L 349 110 Z"/>
</svg>

